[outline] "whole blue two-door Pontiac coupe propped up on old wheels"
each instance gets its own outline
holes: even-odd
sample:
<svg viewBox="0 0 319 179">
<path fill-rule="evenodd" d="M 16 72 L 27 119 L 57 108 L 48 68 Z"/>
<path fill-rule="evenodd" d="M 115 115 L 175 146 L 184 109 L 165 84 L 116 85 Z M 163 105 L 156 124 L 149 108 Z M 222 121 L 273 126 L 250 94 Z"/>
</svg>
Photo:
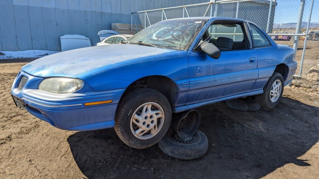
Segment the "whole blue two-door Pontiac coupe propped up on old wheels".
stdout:
<svg viewBox="0 0 319 179">
<path fill-rule="evenodd" d="M 172 113 L 254 96 L 275 107 L 297 63 L 256 24 L 197 17 L 158 22 L 120 44 L 48 55 L 22 67 L 18 107 L 65 130 L 115 127 L 130 147 L 156 144 Z"/>
</svg>

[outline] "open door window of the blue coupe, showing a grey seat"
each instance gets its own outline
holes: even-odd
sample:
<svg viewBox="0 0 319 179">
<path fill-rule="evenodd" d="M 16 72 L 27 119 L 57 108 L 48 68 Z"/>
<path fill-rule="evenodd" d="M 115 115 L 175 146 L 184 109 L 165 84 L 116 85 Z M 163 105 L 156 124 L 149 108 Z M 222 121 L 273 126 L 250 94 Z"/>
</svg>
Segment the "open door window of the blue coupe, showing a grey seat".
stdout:
<svg viewBox="0 0 319 179">
<path fill-rule="evenodd" d="M 241 24 L 217 22 L 212 24 L 207 33 L 209 43 L 214 44 L 220 51 L 247 49 L 247 42 Z"/>
</svg>

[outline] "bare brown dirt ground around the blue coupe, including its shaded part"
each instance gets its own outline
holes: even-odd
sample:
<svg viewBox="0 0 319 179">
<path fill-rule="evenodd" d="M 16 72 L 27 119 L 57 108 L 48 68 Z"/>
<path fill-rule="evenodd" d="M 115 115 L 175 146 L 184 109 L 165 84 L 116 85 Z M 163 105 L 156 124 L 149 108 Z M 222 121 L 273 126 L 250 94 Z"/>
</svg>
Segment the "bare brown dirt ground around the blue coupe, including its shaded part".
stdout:
<svg viewBox="0 0 319 179">
<path fill-rule="evenodd" d="M 18 109 L 10 90 L 24 64 L 0 64 L 0 178 L 318 178 L 318 91 L 285 87 L 272 110 L 199 108 L 208 152 L 182 161 L 132 149 L 113 128 L 63 131 Z"/>
</svg>

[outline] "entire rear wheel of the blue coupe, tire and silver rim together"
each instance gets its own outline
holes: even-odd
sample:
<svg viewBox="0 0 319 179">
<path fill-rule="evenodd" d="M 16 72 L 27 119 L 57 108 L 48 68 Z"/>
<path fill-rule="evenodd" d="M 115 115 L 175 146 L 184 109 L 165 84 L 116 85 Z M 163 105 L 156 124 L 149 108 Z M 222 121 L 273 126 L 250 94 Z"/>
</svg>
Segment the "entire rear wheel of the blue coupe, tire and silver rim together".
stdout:
<svg viewBox="0 0 319 179">
<path fill-rule="evenodd" d="M 284 79 L 280 73 L 274 72 L 269 78 L 263 93 L 257 95 L 257 102 L 264 108 L 273 108 L 279 103 L 284 91 Z"/>
</svg>

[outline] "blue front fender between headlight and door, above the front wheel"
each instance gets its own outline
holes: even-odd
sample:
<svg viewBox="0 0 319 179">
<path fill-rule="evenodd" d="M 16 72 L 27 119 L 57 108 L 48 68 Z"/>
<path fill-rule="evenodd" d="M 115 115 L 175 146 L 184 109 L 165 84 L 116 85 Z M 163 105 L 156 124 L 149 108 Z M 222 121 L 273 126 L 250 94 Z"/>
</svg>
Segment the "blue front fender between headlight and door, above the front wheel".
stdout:
<svg viewBox="0 0 319 179">
<path fill-rule="evenodd" d="M 187 51 L 152 55 L 124 64 L 113 64 L 87 72 L 78 78 L 95 91 L 105 91 L 127 88 L 134 81 L 152 75 L 166 76 L 173 81 L 187 79 Z"/>
</svg>

